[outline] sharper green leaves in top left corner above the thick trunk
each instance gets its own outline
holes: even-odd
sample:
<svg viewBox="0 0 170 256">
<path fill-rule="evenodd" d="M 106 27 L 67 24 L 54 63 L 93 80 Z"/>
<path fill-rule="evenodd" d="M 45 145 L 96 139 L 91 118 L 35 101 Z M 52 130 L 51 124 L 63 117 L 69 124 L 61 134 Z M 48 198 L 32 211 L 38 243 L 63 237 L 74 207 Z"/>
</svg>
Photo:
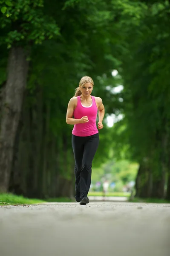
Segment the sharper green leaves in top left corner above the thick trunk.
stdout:
<svg viewBox="0 0 170 256">
<path fill-rule="evenodd" d="M 0 44 L 6 43 L 8 48 L 41 44 L 60 34 L 55 20 L 44 13 L 43 0 L 1 0 L 0 9 L 0 28 L 5 32 Z"/>
</svg>

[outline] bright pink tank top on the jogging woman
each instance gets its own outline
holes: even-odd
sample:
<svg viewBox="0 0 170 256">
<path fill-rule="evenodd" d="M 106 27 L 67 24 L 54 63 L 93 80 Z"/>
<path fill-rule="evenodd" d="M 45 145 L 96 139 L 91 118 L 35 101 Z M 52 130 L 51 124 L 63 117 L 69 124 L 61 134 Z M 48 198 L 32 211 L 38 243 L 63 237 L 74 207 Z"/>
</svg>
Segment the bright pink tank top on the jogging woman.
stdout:
<svg viewBox="0 0 170 256">
<path fill-rule="evenodd" d="M 92 97 L 92 105 L 90 107 L 84 107 L 81 104 L 80 96 L 77 97 L 78 102 L 74 111 L 74 118 L 81 119 L 83 116 L 87 116 L 89 122 L 82 124 L 75 124 L 72 130 L 72 134 L 75 136 L 91 136 L 98 133 L 98 129 L 96 126 L 96 118 L 98 113 L 98 108 L 95 103 L 95 97 Z"/>
</svg>

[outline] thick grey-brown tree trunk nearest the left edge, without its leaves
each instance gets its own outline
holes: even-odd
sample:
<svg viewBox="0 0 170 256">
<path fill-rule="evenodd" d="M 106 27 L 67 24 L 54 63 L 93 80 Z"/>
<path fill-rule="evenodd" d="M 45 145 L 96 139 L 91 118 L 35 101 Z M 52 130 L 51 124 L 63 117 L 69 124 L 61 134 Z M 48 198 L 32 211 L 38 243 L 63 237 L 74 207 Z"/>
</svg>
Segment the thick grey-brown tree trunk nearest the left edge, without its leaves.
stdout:
<svg viewBox="0 0 170 256">
<path fill-rule="evenodd" d="M 3 92 L 0 122 L 0 192 L 7 192 L 14 155 L 14 141 L 20 120 L 28 73 L 26 54 L 21 47 L 9 53 L 8 77 Z"/>
</svg>

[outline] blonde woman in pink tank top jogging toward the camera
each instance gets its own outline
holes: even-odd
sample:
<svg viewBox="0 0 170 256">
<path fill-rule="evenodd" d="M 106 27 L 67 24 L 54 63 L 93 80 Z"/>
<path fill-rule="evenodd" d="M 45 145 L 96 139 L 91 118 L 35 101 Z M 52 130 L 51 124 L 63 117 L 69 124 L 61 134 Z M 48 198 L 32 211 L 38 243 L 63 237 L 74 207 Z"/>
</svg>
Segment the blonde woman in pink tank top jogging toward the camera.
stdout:
<svg viewBox="0 0 170 256">
<path fill-rule="evenodd" d="M 89 203 L 87 195 L 91 184 L 92 160 L 99 144 L 98 129 L 103 128 L 104 105 L 101 98 L 91 96 L 93 85 L 91 77 L 82 77 L 66 113 L 66 123 L 74 125 L 72 148 L 75 157 L 75 199 L 81 205 Z"/>
</svg>

